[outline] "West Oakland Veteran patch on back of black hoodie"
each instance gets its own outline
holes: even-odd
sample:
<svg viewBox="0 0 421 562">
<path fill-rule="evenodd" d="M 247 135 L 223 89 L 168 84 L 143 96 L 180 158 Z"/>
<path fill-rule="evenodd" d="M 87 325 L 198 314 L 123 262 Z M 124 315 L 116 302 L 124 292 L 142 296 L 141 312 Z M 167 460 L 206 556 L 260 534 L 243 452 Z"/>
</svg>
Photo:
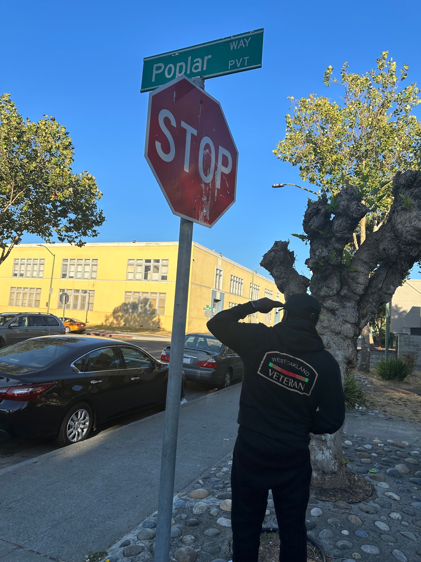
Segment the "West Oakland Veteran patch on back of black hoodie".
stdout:
<svg viewBox="0 0 421 562">
<path fill-rule="evenodd" d="M 278 351 L 268 351 L 257 372 L 283 388 L 306 396 L 310 396 L 317 380 L 317 371 L 311 365 Z"/>
</svg>

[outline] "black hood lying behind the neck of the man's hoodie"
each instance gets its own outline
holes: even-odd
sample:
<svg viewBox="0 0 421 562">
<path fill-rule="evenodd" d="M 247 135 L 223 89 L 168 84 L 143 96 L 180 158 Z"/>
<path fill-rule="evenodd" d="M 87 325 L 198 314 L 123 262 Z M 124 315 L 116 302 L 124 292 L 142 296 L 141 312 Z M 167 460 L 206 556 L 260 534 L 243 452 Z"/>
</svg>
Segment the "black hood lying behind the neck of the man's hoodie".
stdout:
<svg viewBox="0 0 421 562">
<path fill-rule="evenodd" d="M 286 320 L 274 325 L 273 330 L 290 352 L 311 353 L 324 350 L 323 340 L 309 320 Z"/>
</svg>

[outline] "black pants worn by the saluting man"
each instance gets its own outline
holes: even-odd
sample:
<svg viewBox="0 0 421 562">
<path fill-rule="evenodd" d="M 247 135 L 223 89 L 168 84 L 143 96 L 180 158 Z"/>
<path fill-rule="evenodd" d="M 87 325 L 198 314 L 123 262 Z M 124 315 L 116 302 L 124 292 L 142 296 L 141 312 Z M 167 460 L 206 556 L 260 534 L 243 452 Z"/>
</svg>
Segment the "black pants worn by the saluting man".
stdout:
<svg viewBox="0 0 421 562">
<path fill-rule="evenodd" d="M 312 465 L 306 451 L 274 452 L 251 446 L 239 433 L 232 456 L 233 562 L 257 562 L 260 533 L 272 490 L 281 562 L 306 562 L 305 511 Z"/>
</svg>

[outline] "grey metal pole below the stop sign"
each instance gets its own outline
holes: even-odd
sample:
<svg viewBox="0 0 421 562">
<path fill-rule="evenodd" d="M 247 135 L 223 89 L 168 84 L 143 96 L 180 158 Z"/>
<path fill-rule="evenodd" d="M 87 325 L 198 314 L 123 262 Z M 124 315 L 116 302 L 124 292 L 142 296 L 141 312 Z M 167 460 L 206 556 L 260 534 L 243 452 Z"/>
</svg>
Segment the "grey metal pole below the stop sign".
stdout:
<svg viewBox="0 0 421 562">
<path fill-rule="evenodd" d="M 179 430 L 181 373 L 186 333 L 192 239 L 193 222 L 187 219 L 180 219 L 179 253 L 177 257 L 177 277 L 172 320 L 171 361 L 170 369 L 168 370 L 161 477 L 159 479 L 155 562 L 167 562 L 170 559 L 172 498 L 174 493 L 177 434 Z"/>
</svg>

